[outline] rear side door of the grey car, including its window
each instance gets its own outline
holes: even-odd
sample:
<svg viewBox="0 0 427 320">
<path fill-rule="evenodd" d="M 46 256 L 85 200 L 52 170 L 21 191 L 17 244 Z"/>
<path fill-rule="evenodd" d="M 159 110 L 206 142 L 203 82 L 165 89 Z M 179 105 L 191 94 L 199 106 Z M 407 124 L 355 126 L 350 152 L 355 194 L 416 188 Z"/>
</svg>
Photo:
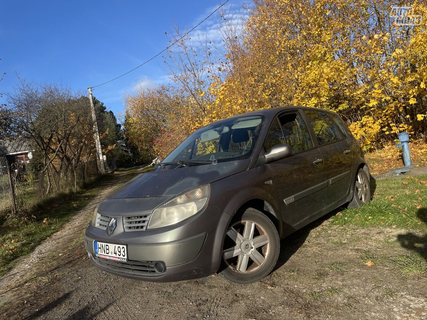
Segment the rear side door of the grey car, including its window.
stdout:
<svg viewBox="0 0 427 320">
<path fill-rule="evenodd" d="M 329 112 L 304 110 L 325 162 L 327 204 L 344 198 L 350 187 L 353 157 L 351 143 L 338 117 Z M 341 125 L 341 126 L 340 126 Z"/>
</svg>

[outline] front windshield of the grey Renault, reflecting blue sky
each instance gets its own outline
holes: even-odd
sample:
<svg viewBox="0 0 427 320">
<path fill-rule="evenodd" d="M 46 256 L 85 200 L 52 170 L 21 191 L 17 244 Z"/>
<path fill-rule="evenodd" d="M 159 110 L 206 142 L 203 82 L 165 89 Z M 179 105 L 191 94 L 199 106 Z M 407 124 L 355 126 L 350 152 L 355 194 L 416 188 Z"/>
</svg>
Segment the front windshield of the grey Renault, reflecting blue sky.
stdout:
<svg viewBox="0 0 427 320">
<path fill-rule="evenodd" d="M 264 122 L 263 115 L 240 116 L 193 132 L 163 163 L 178 161 L 226 162 L 252 157 Z"/>
</svg>

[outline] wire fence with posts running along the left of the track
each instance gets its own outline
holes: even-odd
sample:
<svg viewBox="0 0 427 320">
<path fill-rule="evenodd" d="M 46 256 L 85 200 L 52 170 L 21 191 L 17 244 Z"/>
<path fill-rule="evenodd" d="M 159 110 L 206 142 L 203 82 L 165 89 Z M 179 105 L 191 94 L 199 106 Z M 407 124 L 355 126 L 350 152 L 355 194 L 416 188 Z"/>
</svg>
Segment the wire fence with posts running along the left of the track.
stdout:
<svg viewBox="0 0 427 320">
<path fill-rule="evenodd" d="M 111 170 L 117 168 L 114 158 L 108 159 L 108 164 Z M 81 162 L 74 169 L 61 172 L 51 168 L 42 172 L 26 170 L 22 163 L 10 164 L 6 157 L 0 156 L 0 225 L 10 218 L 35 218 L 42 201 L 64 192 L 75 193 L 98 176 L 96 160 Z"/>
</svg>

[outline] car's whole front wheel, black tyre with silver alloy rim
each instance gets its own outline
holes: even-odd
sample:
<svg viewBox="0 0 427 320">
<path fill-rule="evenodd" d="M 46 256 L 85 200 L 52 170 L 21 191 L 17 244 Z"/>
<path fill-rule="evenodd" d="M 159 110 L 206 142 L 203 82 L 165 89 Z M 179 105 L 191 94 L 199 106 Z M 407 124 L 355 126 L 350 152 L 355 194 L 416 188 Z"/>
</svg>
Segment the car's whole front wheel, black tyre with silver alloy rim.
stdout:
<svg viewBox="0 0 427 320">
<path fill-rule="evenodd" d="M 266 215 L 248 208 L 231 221 L 222 250 L 219 276 L 239 284 L 256 282 L 266 277 L 277 262 L 279 235 Z"/>
</svg>

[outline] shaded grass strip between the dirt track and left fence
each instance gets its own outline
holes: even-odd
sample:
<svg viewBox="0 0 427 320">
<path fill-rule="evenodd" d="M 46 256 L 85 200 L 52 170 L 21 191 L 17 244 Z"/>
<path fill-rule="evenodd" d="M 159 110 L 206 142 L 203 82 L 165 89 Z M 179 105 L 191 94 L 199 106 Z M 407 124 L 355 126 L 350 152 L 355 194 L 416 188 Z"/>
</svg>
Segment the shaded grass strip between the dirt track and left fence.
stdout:
<svg viewBox="0 0 427 320">
<path fill-rule="evenodd" d="M 120 182 L 117 183 L 117 187 L 142 172 L 138 169 L 135 168 L 126 172 Z M 149 170 L 147 167 L 143 169 Z M 31 253 L 41 241 L 60 230 L 72 215 L 85 207 L 108 186 L 108 183 L 111 183 L 114 175 L 105 175 L 85 186 L 76 194 L 57 194 L 55 197 L 42 201 L 38 204 L 39 211 L 34 212 L 34 221 L 4 223 L 0 230 L 0 276 L 3 276 L 15 265 L 17 258 Z M 43 223 L 45 218 L 47 223 Z"/>
</svg>

